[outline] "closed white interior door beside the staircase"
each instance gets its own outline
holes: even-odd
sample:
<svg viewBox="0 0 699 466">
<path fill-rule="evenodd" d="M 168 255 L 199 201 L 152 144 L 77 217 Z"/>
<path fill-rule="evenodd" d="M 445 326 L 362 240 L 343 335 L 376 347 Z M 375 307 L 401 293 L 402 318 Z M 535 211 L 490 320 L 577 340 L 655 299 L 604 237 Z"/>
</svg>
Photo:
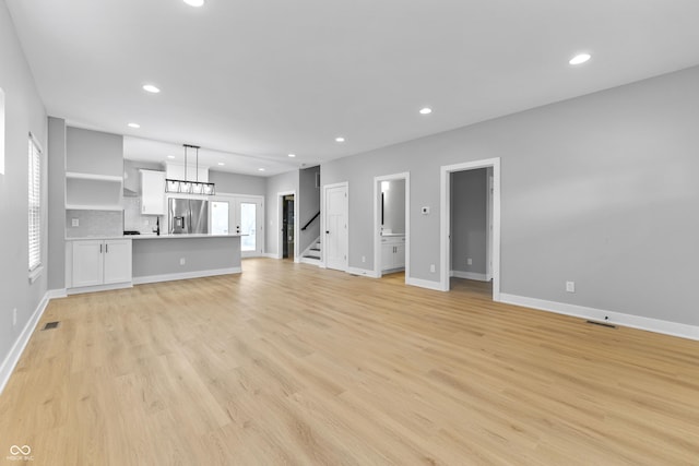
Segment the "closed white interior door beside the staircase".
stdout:
<svg viewBox="0 0 699 466">
<path fill-rule="evenodd" d="M 347 184 L 325 187 L 325 267 L 347 270 Z"/>
</svg>

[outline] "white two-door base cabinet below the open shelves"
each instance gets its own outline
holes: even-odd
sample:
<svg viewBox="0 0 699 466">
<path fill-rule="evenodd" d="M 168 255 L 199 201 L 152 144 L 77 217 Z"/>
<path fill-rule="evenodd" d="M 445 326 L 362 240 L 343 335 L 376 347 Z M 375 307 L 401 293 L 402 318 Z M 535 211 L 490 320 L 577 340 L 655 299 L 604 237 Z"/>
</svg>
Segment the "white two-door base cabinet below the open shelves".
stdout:
<svg viewBox="0 0 699 466">
<path fill-rule="evenodd" d="M 131 282 L 131 240 L 73 241 L 72 287 Z"/>
</svg>

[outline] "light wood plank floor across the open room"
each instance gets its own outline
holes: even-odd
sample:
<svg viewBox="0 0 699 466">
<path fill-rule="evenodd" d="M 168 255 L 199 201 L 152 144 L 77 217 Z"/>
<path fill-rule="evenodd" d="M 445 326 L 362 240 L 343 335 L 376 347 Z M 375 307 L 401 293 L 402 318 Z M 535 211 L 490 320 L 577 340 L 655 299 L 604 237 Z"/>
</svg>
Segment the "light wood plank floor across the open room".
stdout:
<svg viewBox="0 0 699 466">
<path fill-rule="evenodd" d="M 270 259 L 54 300 L 0 397 L 34 465 L 699 464 L 699 342 Z"/>
</svg>

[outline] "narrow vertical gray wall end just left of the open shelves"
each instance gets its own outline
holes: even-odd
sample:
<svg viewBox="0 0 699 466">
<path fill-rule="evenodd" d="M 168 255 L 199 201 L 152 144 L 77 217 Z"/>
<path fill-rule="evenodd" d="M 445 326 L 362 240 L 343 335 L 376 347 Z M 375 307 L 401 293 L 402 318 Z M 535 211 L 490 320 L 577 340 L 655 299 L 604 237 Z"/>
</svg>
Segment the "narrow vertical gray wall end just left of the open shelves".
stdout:
<svg viewBox="0 0 699 466">
<path fill-rule="evenodd" d="M 66 288 L 66 120 L 48 118 L 48 288 Z"/>
</svg>

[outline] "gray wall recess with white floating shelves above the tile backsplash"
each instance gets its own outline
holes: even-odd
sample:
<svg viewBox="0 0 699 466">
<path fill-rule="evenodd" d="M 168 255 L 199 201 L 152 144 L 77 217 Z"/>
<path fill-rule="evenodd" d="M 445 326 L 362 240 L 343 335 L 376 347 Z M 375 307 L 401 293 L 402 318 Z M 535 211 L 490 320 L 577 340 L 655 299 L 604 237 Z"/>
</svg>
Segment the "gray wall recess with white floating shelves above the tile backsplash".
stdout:
<svg viewBox="0 0 699 466">
<path fill-rule="evenodd" d="M 67 128 L 66 208 L 120 211 L 123 138 Z"/>
</svg>

